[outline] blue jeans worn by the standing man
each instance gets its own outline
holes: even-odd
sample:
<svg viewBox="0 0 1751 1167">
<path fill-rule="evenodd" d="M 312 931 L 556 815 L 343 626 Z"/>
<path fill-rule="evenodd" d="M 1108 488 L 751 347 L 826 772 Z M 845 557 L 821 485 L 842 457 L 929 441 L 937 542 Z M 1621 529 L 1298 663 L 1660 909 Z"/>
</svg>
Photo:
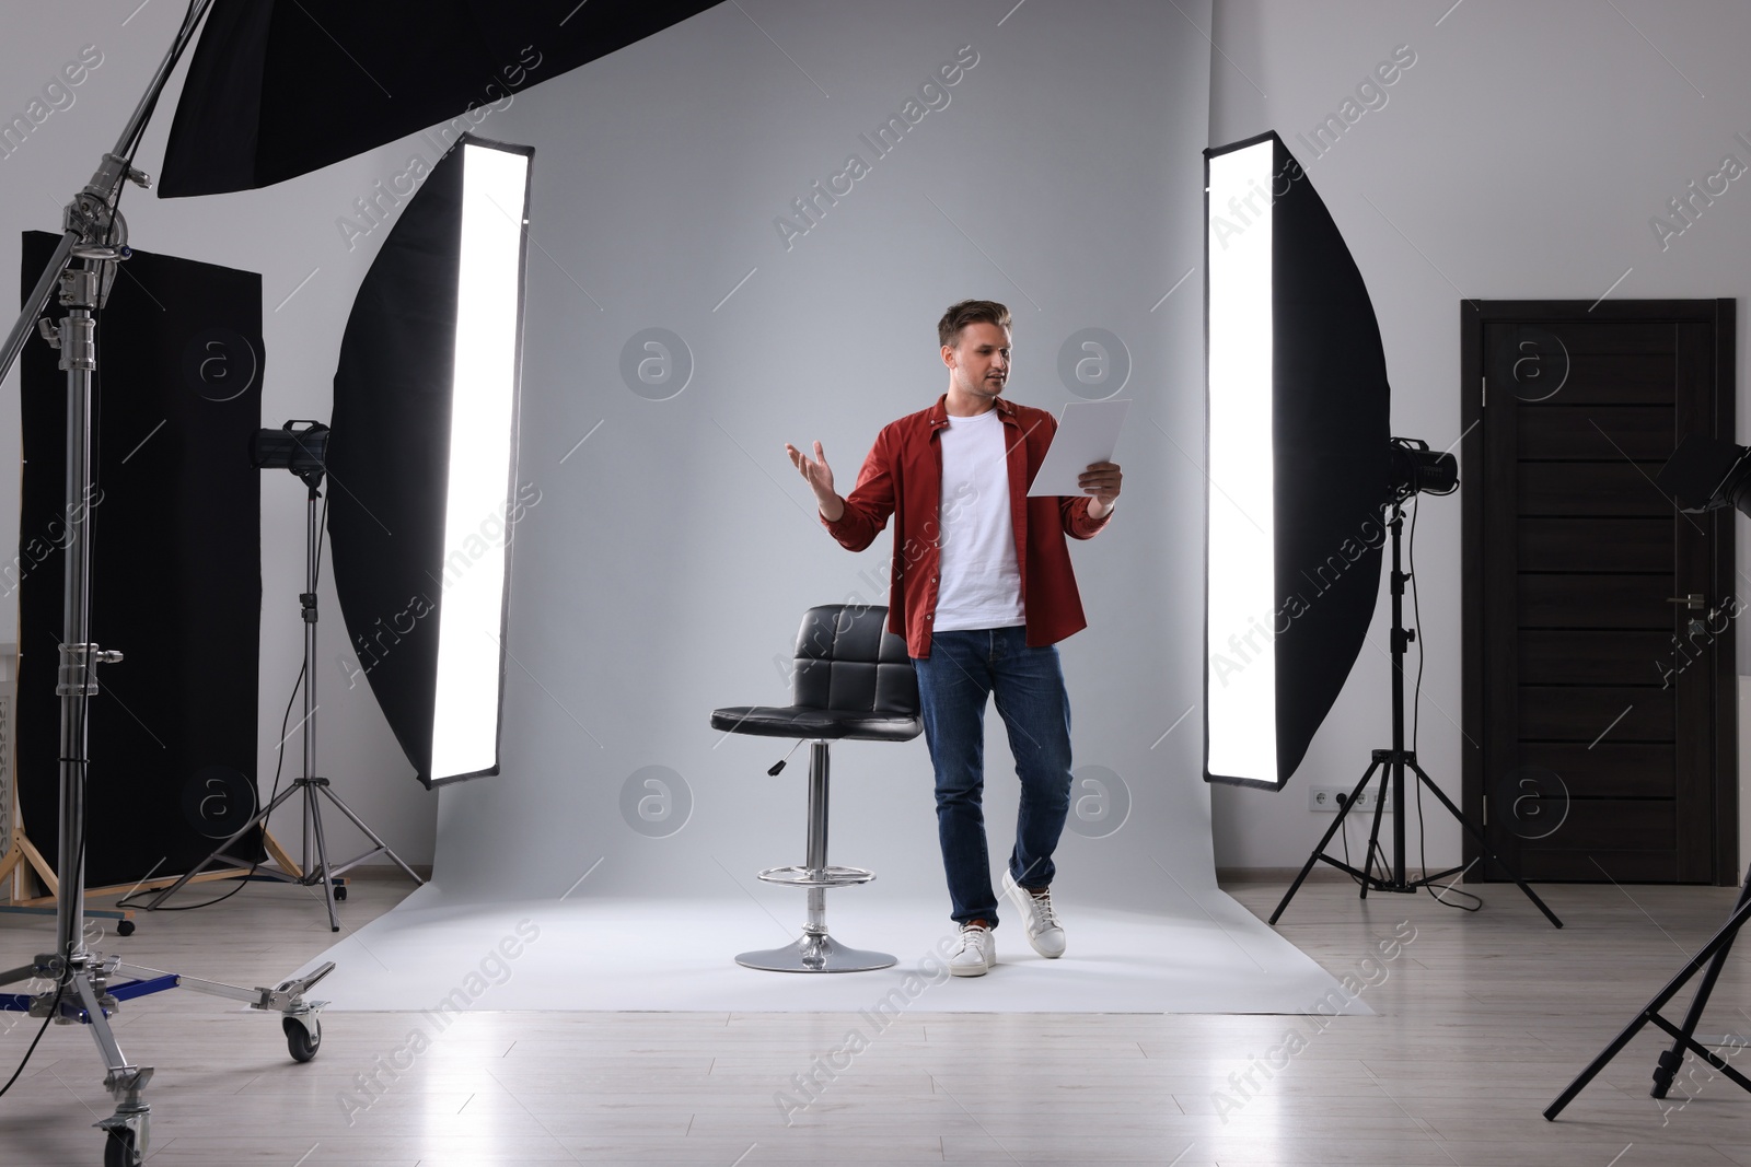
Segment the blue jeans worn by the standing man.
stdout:
<svg viewBox="0 0 1751 1167">
<path fill-rule="evenodd" d="M 1021 777 L 1009 873 L 1023 887 L 1049 887 L 1052 850 L 1070 812 L 1070 696 L 1058 647 L 1028 647 L 1026 628 L 967 628 L 930 637 L 914 656 L 925 742 L 937 770 L 937 836 L 956 924 L 996 927 L 991 857 L 984 833 L 984 707 L 1009 730 Z"/>
</svg>

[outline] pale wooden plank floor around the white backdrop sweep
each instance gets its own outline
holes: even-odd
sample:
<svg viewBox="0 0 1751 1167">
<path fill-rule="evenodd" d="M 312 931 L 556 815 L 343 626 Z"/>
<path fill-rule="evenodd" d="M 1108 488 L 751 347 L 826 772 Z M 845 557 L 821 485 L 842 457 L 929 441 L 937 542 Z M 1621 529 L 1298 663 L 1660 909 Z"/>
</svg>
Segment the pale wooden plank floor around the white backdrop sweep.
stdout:
<svg viewBox="0 0 1751 1167">
<path fill-rule="evenodd" d="M 1268 915 L 1283 880 L 1226 887 Z M 298 1066 L 277 1018 L 172 992 L 128 1003 L 117 1036 L 158 1067 L 149 1162 L 166 1165 L 1751 1165 L 1751 1095 L 1698 1073 L 1655 1102 L 1649 1036 L 1541 1118 L 1735 892 L 1546 885 L 1558 933 L 1511 885 L 1481 891 L 1476 915 L 1427 894 L 1359 903 L 1347 882 L 1301 891 L 1282 933 L 1366 983 L 1378 1017 L 900 1013 L 876 1031 L 823 1013 L 478 1013 L 434 1032 L 417 1013 L 334 1013 Z M 404 892 L 364 877 L 348 927 Z M 257 983 L 329 940 L 306 892 L 252 885 L 100 948 Z M 51 926 L 0 917 L 0 966 L 44 947 Z M 1730 962 L 1698 1032 L 1751 1034 L 1747 987 Z M 851 1027 L 867 1048 L 847 1048 Z M 33 1032 L 0 1034 L 0 1081 Z M 100 1080 L 89 1038 L 51 1027 L 0 1099 L 0 1164 L 100 1164 Z"/>
</svg>

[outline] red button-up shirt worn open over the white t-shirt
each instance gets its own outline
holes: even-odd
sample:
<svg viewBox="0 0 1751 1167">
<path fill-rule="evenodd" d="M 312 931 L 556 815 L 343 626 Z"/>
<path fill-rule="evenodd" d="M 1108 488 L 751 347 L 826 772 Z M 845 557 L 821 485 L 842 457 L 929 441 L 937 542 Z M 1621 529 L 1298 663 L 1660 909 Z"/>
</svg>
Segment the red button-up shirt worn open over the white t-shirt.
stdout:
<svg viewBox="0 0 1751 1167">
<path fill-rule="evenodd" d="M 858 485 L 846 495 L 837 521 L 821 518 L 849 551 L 861 551 L 898 516 L 893 532 L 893 570 L 888 588 L 888 632 L 905 637 L 912 656 L 930 656 L 930 621 L 937 609 L 937 563 L 942 509 L 942 443 L 937 430 L 949 423 L 947 394 L 928 409 L 890 422 L 863 458 Z M 1009 514 L 1016 528 L 1016 563 L 1021 569 L 1021 604 L 1026 644 L 1042 647 L 1087 628 L 1082 597 L 1070 570 L 1072 539 L 1093 539 L 1110 520 L 1089 518 L 1093 495 L 1028 497 L 1028 483 L 1045 460 L 1058 418 L 1045 409 L 996 399 L 1009 446 Z"/>
</svg>

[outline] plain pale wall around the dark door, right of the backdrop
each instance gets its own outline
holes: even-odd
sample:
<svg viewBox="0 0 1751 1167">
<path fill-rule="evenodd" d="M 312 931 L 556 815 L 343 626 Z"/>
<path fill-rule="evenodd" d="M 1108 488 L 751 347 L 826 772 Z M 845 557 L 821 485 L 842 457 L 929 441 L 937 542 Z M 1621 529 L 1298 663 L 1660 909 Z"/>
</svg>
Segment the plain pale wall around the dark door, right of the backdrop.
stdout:
<svg viewBox="0 0 1751 1167">
<path fill-rule="evenodd" d="M 1219 0 L 1213 42 L 1210 140 L 1271 128 L 1306 164 L 1380 315 L 1396 434 L 1438 448 L 1459 437 L 1460 297 L 1590 301 L 1613 285 L 1613 297 L 1632 299 L 1751 294 L 1747 180 L 1665 247 L 1649 227 L 1723 156 L 1751 164 L 1751 147 L 1735 140 L 1751 136 L 1742 3 Z M 1417 63 L 1385 89 L 1383 107 L 1324 156 L 1296 140 L 1354 98 L 1396 45 Z M 1740 306 L 1740 353 L 1742 329 Z M 1740 359 L 1740 441 L 1751 429 L 1744 381 Z M 1457 794 L 1462 752 L 1474 749 L 1457 724 L 1460 499 L 1425 506 L 1420 751 Z M 1219 866 L 1299 864 L 1331 822 L 1308 810 L 1306 786 L 1354 784 L 1368 751 L 1389 744 L 1383 609 L 1385 595 L 1373 647 L 1289 789 L 1212 796 Z M 1746 647 L 1740 637 L 1740 660 Z M 1432 801 L 1425 815 L 1429 863 L 1457 863 L 1459 826 Z M 1415 845 L 1415 821 L 1410 833 Z"/>
</svg>

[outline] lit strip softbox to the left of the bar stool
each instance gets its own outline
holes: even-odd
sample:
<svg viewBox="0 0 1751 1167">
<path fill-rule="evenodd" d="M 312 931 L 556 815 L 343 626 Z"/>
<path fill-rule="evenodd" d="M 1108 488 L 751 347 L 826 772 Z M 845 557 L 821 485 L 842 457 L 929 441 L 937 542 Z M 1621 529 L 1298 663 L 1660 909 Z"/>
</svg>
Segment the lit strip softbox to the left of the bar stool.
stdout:
<svg viewBox="0 0 1751 1167">
<path fill-rule="evenodd" d="M 329 544 L 354 654 L 418 779 L 497 773 L 532 150 L 464 136 L 359 287 Z"/>
</svg>

